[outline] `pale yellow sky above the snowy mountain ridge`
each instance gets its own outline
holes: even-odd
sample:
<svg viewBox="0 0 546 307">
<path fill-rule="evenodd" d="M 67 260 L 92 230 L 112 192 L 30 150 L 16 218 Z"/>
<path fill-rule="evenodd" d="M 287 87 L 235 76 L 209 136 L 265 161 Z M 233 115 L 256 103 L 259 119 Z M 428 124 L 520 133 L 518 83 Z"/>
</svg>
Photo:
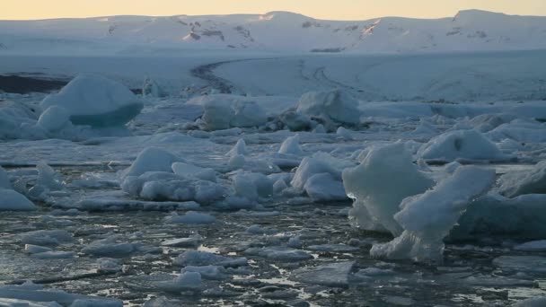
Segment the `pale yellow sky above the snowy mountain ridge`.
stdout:
<svg viewBox="0 0 546 307">
<path fill-rule="evenodd" d="M 546 0 L 0 0 L 0 19 L 290 11 L 320 19 L 364 20 L 449 17 L 471 8 L 544 16 Z"/>
</svg>

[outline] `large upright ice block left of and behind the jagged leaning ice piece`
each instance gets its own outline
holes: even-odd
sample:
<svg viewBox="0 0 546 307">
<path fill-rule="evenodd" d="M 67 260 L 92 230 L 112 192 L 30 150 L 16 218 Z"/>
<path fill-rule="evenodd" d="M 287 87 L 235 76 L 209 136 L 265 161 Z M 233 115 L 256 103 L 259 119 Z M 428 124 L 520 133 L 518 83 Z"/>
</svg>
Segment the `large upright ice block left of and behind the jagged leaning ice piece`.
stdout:
<svg viewBox="0 0 546 307">
<path fill-rule="evenodd" d="M 405 197 L 423 193 L 433 186 L 402 143 L 373 148 L 357 167 L 343 172 L 348 196 L 355 199 L 350 215 L 366 230 L 402 232 L 393 215 Z"/>
</svg>

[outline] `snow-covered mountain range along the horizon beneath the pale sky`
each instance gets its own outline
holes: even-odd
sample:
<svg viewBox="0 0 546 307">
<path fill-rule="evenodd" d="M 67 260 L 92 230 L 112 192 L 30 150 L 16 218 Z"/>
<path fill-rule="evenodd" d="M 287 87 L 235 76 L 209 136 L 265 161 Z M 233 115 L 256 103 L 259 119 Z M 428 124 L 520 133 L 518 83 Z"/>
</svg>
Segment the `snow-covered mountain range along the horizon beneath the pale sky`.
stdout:
<svg viewBox="0 0 546 307">
<path fill-rule="evenodd" d="M 0 21 L 0 54 L 246 49 L 411 53 L 546 48 L 546 17 L 462 11 L 451 18 L 326 21 L 271 12 Z"/>
</svg>

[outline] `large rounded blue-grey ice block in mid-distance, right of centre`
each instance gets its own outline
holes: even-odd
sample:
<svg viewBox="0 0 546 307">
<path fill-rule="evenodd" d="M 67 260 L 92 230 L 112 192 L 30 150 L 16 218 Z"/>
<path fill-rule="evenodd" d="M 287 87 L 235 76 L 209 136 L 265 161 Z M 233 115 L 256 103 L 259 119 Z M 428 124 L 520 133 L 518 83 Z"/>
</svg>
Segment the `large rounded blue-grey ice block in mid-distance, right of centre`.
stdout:
<svg viewBox="0 0 546 307">
<path fill-rule="evenodd" d="M 358 101 L 341 90 L 304 93 L 297 103 L 297 111 L 344 124 L 357 125 L 360 122 Z"/>
</svg>

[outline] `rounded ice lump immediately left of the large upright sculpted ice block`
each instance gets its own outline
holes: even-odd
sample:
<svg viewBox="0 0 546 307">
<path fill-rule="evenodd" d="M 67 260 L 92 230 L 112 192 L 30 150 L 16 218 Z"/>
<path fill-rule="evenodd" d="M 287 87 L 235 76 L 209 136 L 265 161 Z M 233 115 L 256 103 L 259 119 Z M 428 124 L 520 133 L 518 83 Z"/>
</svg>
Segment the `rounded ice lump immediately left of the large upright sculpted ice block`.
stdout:
<svg viewBox="0 0 546 307">
<path fill-rule="evenodd" d="M 304 185 L 304 190 L 314 201 L 347 200 L 343 182 L 328 172 L 311 176 Z"/>
</svg>

